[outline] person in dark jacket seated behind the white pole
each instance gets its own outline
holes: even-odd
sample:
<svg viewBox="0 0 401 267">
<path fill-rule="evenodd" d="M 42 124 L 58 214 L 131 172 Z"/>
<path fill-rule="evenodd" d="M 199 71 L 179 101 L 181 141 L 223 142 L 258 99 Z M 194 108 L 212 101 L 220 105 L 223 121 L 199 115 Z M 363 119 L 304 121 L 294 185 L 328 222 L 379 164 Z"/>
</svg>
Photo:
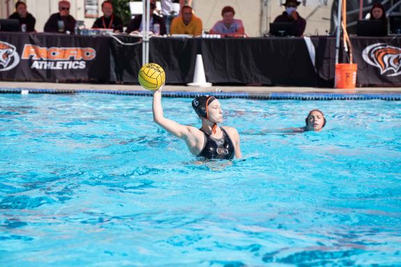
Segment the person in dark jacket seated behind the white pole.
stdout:
<svg viewBox="0 0 401 267">
<path fill-rule="evenodd" d="M 165 35 L 167 33 L 166 31 L 166 24 L 165 21 L 162 19 L 162 17 L 159 17 L 156 14 L 153 14 L 153 12 L 156 10 L 156 0 L 151 0 L 151 17 L 149 20 L 149 31 L 152 31 L 155 34 L 160 34 Z M 155 26 L 158 24 L 158 27 Z M 127 33 L 130 33 L 131 31 L 143 31 L 142 29 L 142 15 L 137 15 L 133 18 L 133 20 L 128 23 L 127 26 Z"/>
</svg>

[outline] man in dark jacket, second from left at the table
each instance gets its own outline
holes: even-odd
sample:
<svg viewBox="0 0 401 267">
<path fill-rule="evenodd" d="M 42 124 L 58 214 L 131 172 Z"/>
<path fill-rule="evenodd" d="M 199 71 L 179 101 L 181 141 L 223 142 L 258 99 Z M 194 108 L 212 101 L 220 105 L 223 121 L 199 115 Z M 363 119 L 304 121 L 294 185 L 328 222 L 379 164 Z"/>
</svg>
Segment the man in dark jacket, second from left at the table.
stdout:
<svg viewBox="0 0 401 267">
<path fill-rule="evenodd" d="M 54 13 L 45 24 L 48 33 L 75 33 L 77 21 L 70 15 L 70 2 L 59 1 L 59 13 Z"/>
</svg>

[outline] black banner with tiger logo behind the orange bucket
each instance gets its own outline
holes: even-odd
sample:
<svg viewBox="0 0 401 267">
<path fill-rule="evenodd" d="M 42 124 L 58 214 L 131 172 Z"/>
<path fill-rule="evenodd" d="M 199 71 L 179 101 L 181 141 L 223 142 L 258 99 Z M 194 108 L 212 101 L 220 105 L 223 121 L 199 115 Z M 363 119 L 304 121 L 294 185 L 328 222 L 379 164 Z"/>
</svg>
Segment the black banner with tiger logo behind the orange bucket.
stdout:
<svg viewBox="0 0 401 267">
<path fill-rule="evenodd" d="M 335 38 L 313 38 L 316 47 L 317 86 L 334 86 Z M 339 63 L 349 63 L 340 42 Z M 353 63 L 357 63 L 356 86 L 400 86 L 401 38 L 351 37 Z"/>
</svg>

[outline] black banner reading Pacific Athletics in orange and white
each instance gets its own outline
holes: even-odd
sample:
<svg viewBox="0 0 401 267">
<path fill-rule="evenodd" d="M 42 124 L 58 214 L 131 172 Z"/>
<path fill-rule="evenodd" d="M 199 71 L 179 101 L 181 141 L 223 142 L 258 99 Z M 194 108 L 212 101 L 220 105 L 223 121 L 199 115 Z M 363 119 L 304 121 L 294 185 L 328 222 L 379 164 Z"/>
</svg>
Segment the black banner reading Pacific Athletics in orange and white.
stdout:
<svg viewBox="0 0 401 267">
<path fill-rule="evenodd" d="M 0 79 L 74 82 L 109 80 L 109 38 L 0 33 Z"/>
</svg>

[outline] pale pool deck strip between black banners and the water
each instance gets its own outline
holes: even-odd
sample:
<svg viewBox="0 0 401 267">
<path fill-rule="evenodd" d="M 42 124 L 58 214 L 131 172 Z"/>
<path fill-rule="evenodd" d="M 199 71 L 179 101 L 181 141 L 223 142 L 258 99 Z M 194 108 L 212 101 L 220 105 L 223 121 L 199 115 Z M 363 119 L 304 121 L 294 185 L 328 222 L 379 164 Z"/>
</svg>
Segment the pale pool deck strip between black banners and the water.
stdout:
<svg viewBox="0 0 401 267">
<path fill-rule="evenodd" d="M 0 89 L 55 89 L 56 91 L 144 91 L 139 85 L 125 84 L 65 84 L 52 82 L 0 82 Z M 400 94 L 401 87 L 358 87 L 356 89 L 331 89 L 291 86 L 211 86 L 195 87 L 181 85 L 166 85 L 164 91 L 178 92 L 227 92 L 227 93 L 369 93 L 369 94 Z"/>
</svg>

